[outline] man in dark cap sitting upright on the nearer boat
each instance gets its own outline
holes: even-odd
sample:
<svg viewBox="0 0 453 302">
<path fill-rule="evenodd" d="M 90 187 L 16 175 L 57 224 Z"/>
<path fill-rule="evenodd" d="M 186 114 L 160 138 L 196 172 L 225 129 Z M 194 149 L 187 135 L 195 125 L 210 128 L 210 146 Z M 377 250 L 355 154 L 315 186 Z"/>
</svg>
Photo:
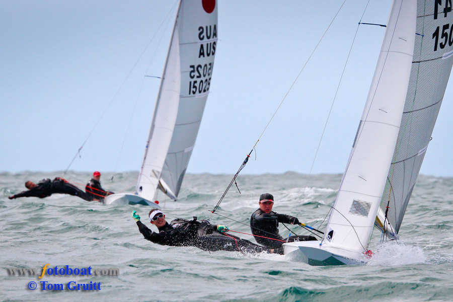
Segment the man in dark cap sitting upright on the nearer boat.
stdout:
<svg viewBox="0 0 453 302">
<path fill-rule="evenodd" d="M 259 204 L 260 208 L 253 212 L 250 217 L 250 229 L 252 229 L 252 234 L 255 235 L 255 240 L 259 244 L 270 249 L 276 249 L 276 253 L 283 254 L 282 245 L 285 242 L 317 240 L 313 236 L 291 236 L 285 240 L 278 233 L 278 222 L 300 224 L 299 220 L 290 215 L 273 212 L 274 196 L 272 194 L 261 194 Z"/>
</svg>

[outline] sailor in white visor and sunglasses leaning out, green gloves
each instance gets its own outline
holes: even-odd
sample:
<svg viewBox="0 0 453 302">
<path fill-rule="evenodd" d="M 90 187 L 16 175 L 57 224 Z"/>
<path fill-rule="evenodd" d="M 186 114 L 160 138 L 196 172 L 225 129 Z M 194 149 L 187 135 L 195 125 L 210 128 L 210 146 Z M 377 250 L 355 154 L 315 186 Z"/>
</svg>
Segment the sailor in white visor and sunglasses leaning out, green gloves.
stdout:
<svg viewBox="0 0 453 302">
<path fill-rule="evenodd" d="M 165 220 L 164 213 L 159 209 L 149 211 L 151 224 L 157 226 L 159 233 L 149 230 L 140 221 L 140 216 L 134 210 L 132 217 L 138 225 L 138 230 L 146 240 L 160 245 L 168 246 L 192 246 L 204 251 L 241 251 L 247 253 L 272 253 L 273 250 L 266 249 L 248 240 L 236 236 L 225 235 L 229 229 L 224 225 L 212 225 L 206 220 L 197 221 L 174 219 L 170 224 Z"/>
</svg>

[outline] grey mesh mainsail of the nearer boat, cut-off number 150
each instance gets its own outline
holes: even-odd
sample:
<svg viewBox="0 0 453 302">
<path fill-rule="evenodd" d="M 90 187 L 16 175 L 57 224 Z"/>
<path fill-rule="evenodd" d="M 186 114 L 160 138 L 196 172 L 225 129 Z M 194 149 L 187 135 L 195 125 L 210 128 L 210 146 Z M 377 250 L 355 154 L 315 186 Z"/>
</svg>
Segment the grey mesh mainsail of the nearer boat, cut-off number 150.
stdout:
<svg viewBox="0 0 453 302">
<path fill-rule="evenodd" d="M 414 189 L 453 63 L 451 1 L 418 1 L 411 77 L 398 141 L 382 196 L 386 234 L 398 234 Z"/>
</svg>

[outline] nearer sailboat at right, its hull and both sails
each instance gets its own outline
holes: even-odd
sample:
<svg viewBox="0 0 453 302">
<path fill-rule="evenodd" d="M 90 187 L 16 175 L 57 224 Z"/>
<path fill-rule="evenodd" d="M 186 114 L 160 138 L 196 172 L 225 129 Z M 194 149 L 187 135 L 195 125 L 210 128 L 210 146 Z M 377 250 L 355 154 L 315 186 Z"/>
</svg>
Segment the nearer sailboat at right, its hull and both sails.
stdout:
<svg viewBox="0 0 453 302">
<path fill-rule="evenodd" d="M 451 1 L 394 0 L 324 236 L 283 244 L 311 265 L 360 264 L 375 225 L 398 239 L 453 63 Z"/>
</svg>

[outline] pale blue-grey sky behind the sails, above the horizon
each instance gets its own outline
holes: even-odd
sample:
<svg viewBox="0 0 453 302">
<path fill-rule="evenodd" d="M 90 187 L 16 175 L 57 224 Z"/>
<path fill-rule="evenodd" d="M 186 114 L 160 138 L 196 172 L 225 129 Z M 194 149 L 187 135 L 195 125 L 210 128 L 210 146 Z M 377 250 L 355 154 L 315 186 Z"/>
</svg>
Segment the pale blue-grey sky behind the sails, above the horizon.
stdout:
<svg viewBox="0 0 453 302">
<path fill-rule="evenodd" d="M 8 1 L 0 10 L 0 171 L 138 171 L 175 1 Z M 346 1 L 242 173 L 343 173 L 385 29 Z M 213 77 L 188 173 L 234 174 L 341 6 L 218 0 Z M 362 22 L 386 24 L 390 0 Z M 421 173 L 453 176 L 450 83 Z M 109 105 L 110 104 L 110 105 Z M 135 108 L 135 109 L 134 109 Z M 105 114 L 103 114 L 105 112 Z M 100 117 L 102 118 L 100 119 Z"/>
</svg>

